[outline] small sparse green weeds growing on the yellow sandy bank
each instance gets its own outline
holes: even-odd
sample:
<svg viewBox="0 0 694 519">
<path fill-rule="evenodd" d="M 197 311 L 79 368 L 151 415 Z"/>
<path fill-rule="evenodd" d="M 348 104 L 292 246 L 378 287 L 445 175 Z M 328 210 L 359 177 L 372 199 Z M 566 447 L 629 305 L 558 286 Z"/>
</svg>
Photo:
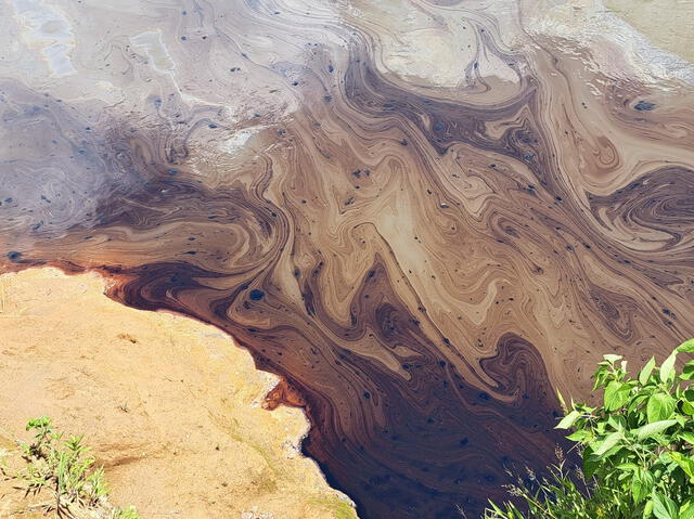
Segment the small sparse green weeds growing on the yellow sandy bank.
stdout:
<svg viewBox="0 0 694 519">
<path fill-rule="evenodd" d="M 34 441 L 20 442 L 25 462 L 16 472 L 9 473 L 0 467 L 3 476 L 17 482 L 25 496 L 37 496 L 43 491 L 52 498 L 38 505 L 44 514 L 55 511 L 57 517 L 68 519 L 140 519 L 133 507 L 113 507 L 106 496 L 108 488 L 102 467 L 94 468 L 94 458 L 82 443 L 82 436 L 69 434 L 51 427 L 51 419 L 31 419 L 26 426 L 34 431 Z"/>
</svg>

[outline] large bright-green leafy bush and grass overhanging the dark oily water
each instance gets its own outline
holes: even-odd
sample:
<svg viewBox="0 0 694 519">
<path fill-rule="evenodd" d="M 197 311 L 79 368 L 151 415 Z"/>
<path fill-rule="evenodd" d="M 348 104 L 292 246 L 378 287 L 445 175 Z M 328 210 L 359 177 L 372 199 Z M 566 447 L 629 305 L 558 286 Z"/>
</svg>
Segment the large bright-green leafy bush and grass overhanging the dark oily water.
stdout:
<svg viewBox="0 0 694 519">
<path fill-rule="evenodd" d="M 603 405 L 570 403 L 558 429 L 570 429 L 581 467 L 562 453 L 549 475 L 531 471 L 510 486 L 515 503 L 490 503 L 485 519 L 694 519 L 694 339 L 658 367 L 651 359 L 637 378 L 619 355 L 605 355 L 593 391 Z M 527 510 L 527 511 L 526 511 Z"/>
</svg>

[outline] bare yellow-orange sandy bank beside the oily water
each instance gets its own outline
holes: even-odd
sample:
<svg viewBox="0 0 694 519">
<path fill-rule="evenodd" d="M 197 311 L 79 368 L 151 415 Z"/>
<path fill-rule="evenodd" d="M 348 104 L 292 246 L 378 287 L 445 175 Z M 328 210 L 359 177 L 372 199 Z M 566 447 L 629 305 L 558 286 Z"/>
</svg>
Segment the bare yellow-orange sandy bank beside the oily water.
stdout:
<svg viewBox="0 0 694 519">
<path fill-rule="evenodd" d="M 54 269 L 0 276 L 0 447 L 41 415 L 83 432 L 112 502 L 143 518 L 356 517 L 299 454 L 300 410 L 260 406 L 274 376 L 216 328 L 104 288 Z M 0 481 L 0 517 L 22 506 Z"/>
</svg>

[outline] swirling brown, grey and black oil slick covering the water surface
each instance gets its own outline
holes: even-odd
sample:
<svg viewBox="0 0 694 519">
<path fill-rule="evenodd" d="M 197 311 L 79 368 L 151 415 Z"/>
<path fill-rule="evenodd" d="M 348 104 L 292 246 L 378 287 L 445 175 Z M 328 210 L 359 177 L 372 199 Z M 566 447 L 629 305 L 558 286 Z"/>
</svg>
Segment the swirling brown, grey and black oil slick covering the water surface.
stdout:
<svg viewBox="0 0 694 519">
<path fill-rule="evenodd" d="M 2 268 L 229 332 L 364 518 L 477 517 L 556 389 L 694 335 L 693 67 L 615 7 L 0 9 Z"/>
</svg>

